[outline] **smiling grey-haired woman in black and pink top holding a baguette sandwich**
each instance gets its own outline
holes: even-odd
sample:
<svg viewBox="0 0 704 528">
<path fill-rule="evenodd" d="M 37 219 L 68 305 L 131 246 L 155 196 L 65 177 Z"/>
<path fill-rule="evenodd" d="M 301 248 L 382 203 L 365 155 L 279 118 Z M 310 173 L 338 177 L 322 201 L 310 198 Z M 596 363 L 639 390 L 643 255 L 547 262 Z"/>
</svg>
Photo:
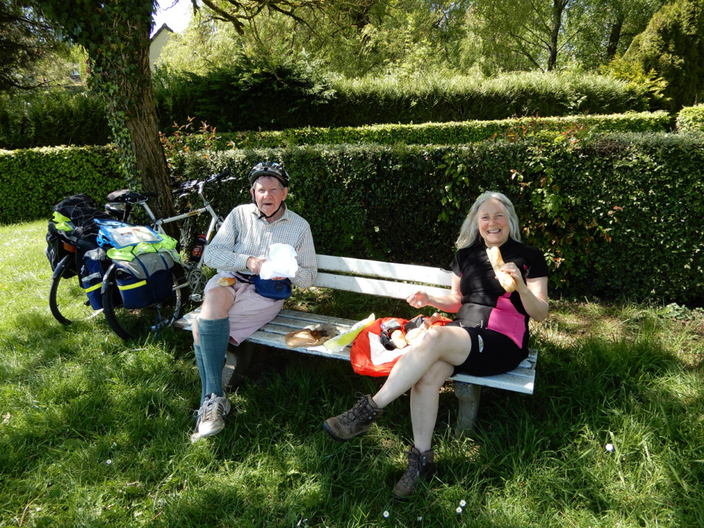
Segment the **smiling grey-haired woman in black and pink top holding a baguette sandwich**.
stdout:
<svg viewBox="0 0 704 528">
<path fill-rule="evenodd" d="M 406 301 L 414 308 L 432 306 L 456 313 L 454 320 L 432 327 L 396 362 L 379 391 L 362 396 L 356 406 L 330 417 L 322 427 L 334 439 L 362 436 L 389 403 L 410 390 L 413 446 L 408 467 L 394 495 L 408 498 L 422 479 L 435 472 L 432 433 L 445 380 L 459 372 L 491 376 L 513 370 L 528 356 L 530 318 L 548 314 L 548 268 L 539 249 L 522 244 L 510 200 L 498 192 L 479 196 L 467 213 L 451 263 L 452 289 L 436 296 L 419 290 Z M 505 289 L 489 261 L 487 249 L 501 246 L 505 256 L 498 273 L 513 282 Z"/>
</svg>

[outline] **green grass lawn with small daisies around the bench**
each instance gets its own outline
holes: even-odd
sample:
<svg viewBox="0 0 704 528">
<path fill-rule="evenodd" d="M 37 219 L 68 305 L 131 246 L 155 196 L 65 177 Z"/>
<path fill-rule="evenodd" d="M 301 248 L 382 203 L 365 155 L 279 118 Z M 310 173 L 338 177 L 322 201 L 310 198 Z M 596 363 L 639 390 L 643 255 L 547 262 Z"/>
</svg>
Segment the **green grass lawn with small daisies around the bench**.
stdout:
<svg viewBox="0 0 704 528">
<path fill-rule="evenodd" d="M 704 527 L 700 310 L 553 302 L 535 332 L 535 394 L 484 389 L 477 428 L 458 439 L 444 389 L 439 473 L 399 503 L 407 396 L 341 444 L 320 422 L 379 380 L 261 351 L 225 430 L 191 444 L 188 334 L 127 346 L 100 317 L 61 327 L 45 228 L 0 227 L 0 527 Z M 412 315 L 326 291 L 290 302 Z"/>
</svg>

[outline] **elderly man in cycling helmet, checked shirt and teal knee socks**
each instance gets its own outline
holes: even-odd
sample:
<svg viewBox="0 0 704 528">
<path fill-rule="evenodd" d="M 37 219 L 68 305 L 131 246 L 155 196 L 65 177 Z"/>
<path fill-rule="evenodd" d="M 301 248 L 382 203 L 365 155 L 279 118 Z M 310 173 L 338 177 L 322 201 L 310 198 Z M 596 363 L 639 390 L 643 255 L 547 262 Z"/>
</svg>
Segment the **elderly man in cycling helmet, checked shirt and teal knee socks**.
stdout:
<svg viewBox="0 0 704 528">
<path fill-rule="evenodd" d="M 274 319 L 284 303 L 258 294 L 251 284 L 251 277 L 268 260 L 271 244 L 289 244 L 296 250 L 298 270 L 291 279 L 296 286 L 310 287 L 318 274 L 310 225 L 284 203 L 289 193 L 287 172 L 278 163 L 258 163 L 249 173 L 249 184 L 253 203 L 230 211 L 203 256 L 218 274 L 206 284 L 193 329 L 201 375 L 194 439 L 217 434 L 225 427 L 230 401 L 222 389 L 222 365 L 228 342 L 240 344 Z"/>
</svg>

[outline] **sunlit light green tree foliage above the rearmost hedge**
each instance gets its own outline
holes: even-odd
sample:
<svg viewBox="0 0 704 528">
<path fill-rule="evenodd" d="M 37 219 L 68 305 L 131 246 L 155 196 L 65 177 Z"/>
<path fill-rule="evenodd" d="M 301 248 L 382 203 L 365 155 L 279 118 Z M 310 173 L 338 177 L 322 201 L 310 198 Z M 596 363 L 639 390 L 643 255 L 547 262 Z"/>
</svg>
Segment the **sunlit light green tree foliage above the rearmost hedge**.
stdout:
<svg viewBox="0 0 704 528">
<path fill-rule="evenodd" d="M 208 0 L 165 62 L 204 73 L 235 52 L 290 56 L 346 77 L 593 70 L 665 1 Z"/>
</svg>

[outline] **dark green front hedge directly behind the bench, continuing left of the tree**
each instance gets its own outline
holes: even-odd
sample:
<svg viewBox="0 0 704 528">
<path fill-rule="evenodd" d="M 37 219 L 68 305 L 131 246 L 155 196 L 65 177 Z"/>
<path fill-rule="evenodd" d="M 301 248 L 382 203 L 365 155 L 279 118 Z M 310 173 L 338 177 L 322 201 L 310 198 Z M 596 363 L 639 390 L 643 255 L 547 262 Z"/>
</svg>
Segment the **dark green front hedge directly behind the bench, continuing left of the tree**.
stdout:
<svg viewBox="0 0 704 528">
<path fill-rule="evenodd" d="M 56 150 L 0 155 L 2 222 L 49 218 L 66 194 L 88 191 L 98 199 L 121 187 L 110 151 Z M 467 208 L 496 189 L 514 201 L 524 239 L 546 253 L 551 296 L 704 303 L 700 135 L 565 133 L 549 142 L 232 149 L 208 158 L 191 152 L 183 170 L 189 178 L 225 167 L 241 175 L 240 183 L 218 189 L 214 205 L 225 213 L 249 201 L 246 175 L 261 160 L 282 161 L 289 170 L 289 205 L 310 222 L 320 253 L 446 268 Z M 61 166 L 34 166 L 43 163 Z M 101 166 L 104 174 L 96 174 Z M 14 177 L 6 177 L 9 168 Z M 65 176 L 77 172 L 88 179 Z M 51 196 L 44 187 L 52 187 Z"/>
</svg>

